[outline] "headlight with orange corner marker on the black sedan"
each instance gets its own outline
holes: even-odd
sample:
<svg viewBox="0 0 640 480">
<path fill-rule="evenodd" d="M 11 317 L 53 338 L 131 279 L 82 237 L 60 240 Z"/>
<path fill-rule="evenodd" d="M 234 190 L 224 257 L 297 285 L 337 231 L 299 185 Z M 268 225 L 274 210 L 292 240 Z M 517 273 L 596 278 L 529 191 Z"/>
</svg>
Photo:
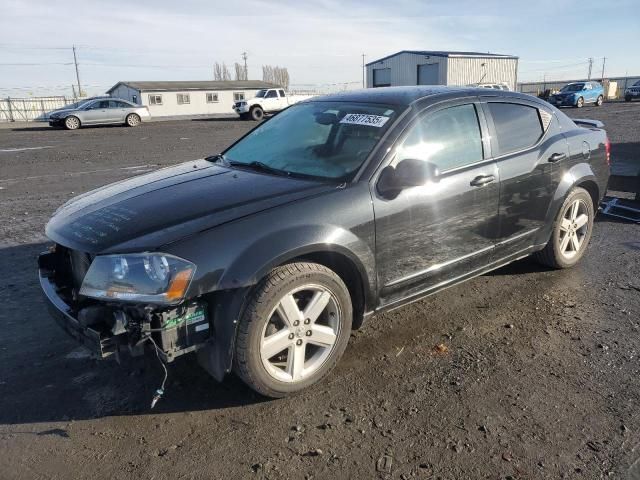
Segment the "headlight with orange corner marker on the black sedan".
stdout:
<svg viewBox="0 0 640 480">
<path fill-rule="evenodd" d="M 172 255 L 101 255 L 89 267 L 80 295 L 103 300 L 172 304 L 184 298 L 196 266 Z"/>
</svg>

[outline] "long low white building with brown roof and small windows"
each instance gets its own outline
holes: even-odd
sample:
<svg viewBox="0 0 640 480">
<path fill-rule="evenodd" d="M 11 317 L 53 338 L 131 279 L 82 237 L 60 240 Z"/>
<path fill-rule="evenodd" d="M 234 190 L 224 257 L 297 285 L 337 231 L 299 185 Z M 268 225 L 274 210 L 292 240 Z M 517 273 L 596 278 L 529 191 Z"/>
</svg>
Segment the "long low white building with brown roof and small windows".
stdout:
<svg viewBox="0 0 640 480">
<path fill-rule="evenodd" d="M 152 117 L 234 113 L 233 103 L 251 98 L 262 88 L 277 88 L 260 80 L 118 82 L 107 93 L 149 107 Z"/>
</svg>

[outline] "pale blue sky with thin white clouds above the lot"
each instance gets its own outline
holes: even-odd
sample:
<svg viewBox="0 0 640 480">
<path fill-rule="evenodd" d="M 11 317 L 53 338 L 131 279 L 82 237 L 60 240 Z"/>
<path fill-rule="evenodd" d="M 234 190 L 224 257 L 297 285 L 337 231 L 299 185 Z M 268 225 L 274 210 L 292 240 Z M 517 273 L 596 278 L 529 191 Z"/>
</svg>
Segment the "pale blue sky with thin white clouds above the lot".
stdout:
<svg viewBox="0 0 640 480">
<path fill-rule="evenodd" d="M 640 0 L 0 0 L 0 97 L 209 80 L 214 62 L 287 67 L 291 89 L 356 88 L 399 50 L 517 55 L 519 81 L 640 76 Z M 633 12 L 633 13 L 631 13 Z"/>
</svg>

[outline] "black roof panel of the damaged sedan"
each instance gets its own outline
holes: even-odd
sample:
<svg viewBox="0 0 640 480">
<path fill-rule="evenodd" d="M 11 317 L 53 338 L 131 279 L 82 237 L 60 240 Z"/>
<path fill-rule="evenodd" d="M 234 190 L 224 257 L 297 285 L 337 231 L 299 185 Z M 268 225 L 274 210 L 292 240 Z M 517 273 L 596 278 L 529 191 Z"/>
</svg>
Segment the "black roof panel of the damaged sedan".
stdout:
<svg viewBox="0 0 640 480">
<path fill-rule="evenodd" d="M 457 94 L 457 95 L 456 95 Z M 495 90 L 477 87 L 446 87 L 440 85 L 415 86 L 415 87 L 380 87 L 365 88 L 362 90 L 351 90 L 347 92 L 333 93 L 313 97 L 310 102 L 318 101 L 339 101 L 339 102 L 361 102 L 361 103 L 381 103 L 385 105 L 408 106 L 416 100 L 422 98 L 438 97 L 465 97 L 470 95 L 482 96 L 502 96 L 512 98 L 531 99 L 530 95 L 506 90 Z"/>
</svg>

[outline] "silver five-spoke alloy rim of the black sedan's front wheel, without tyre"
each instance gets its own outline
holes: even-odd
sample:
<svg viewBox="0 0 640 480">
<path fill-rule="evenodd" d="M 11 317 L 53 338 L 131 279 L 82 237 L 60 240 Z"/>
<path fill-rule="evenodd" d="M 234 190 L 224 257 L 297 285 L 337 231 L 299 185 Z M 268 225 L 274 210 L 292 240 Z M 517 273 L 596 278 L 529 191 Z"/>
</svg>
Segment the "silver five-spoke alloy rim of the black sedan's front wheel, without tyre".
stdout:
<svg viewBox="0 0 640 480">
<path fill-rule="evenodd" d="M 303 285 L 284 295 L 269 315 L 260 341 L 262 365 L 281 382 L 299 382 L 322 367 L 336 346 L 341 312 L 335 295 Z"/>
</svg>

